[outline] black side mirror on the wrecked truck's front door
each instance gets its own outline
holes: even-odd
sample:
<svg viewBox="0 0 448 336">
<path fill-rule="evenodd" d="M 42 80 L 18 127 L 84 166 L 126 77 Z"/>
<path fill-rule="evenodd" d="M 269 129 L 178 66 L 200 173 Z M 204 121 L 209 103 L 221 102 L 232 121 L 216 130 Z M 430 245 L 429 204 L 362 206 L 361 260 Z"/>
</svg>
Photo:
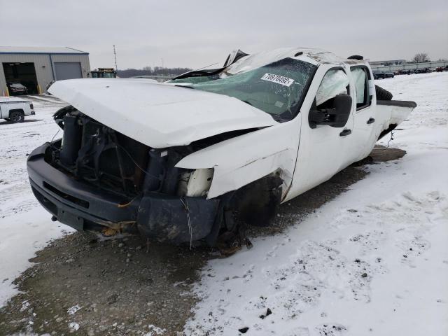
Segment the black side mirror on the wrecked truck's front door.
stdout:
<svg viewBox="0 0 448 336">
<path fill-rule="evenodd" d="M 349 94 L 337 94 L 333 100 L 332 109 L 309 111 L 309 127 L 316 128 L 317 125 L 344 127 L 349 120 L 350 111 L 351 97 Z"/>
</svg>

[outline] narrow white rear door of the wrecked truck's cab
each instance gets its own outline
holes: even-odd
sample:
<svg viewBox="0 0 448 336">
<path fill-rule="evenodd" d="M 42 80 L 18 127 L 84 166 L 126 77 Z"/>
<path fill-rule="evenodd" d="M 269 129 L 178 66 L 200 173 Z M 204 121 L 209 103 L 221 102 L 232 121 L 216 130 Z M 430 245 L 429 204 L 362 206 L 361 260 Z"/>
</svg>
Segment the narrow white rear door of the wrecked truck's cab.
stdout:
<svg viewBox="0 0 448 336">
<path fill-rule="evenodd" d="M 377 141 L 375 127 L 379 120 L 375 120 L 376 100 L 374 97 L 374 84 L 370 71 L 365 65 L 351 66 L 351 77 L 356 97 L 354 98 L 355 112 L 353 113 L 354 125 L 351 141 L 353 155 L 352 161 L 356 162 L 367 157 Z"/>
</svg>

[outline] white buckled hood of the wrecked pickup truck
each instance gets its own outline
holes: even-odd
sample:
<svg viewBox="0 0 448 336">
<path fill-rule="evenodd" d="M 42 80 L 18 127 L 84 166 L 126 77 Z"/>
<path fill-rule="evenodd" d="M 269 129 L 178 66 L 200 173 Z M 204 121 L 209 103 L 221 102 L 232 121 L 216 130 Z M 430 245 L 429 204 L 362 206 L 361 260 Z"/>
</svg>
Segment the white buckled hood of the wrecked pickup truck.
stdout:
<svg viewBox="0 0 448 336">
<path fill-rule="evenodd" d="M 188 145 L 224 132 L 277 123 L 236 98 L 146 79 L 60 80 L 48 91 L 99 123 L 153 148 Z"/>
</svg>

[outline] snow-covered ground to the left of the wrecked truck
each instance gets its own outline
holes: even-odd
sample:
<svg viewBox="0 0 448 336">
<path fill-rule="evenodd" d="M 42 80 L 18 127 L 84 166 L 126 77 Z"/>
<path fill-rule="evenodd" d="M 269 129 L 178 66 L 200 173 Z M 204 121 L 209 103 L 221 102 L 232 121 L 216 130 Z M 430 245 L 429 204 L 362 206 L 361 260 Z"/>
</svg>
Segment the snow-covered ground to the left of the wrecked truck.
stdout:
<svg viewBox="0 0 448 336">
<path fill-rule="evenodd" d="M 25 117 L 20 124 L 0 120 L 0 306 L 17 292 L 11 282 L 29 267 L 35 251 L 71 231 L 50 221 L 38 204 L 26 167 L 27 154 L 56 134 L 59 127 L 52 113 L 66 104 L 51 96 L 25 99 L 33 102 L 36 116 Z"/>
</svg>

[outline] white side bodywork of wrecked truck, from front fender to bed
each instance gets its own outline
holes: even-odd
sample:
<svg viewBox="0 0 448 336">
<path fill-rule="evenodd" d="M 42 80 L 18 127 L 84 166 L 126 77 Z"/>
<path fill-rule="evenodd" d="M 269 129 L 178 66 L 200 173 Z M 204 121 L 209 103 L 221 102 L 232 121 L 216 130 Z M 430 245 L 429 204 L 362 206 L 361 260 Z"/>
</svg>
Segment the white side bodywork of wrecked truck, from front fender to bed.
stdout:
<svg viewBox="0 0 448 336">
<path fill-rule="evenodd" d="M 311 129 L 308 125 L 311 104 L 323 76 L 335 67 L 342 67 L 350 74 L 349 64 L 321 64 L 300 113 L 293 120 L 204 148 L 183 158 L 176 167 L 213 167 L 215 174 L 209 198 L 237 190 L 267 174 L 280 172 L 283 179 L 282 202 L 286 202 L 365 158 L 372 151 L 379 134 L 391 124 L 402 123 L 412 109 L 377 105 L 373 89 L 370 106 L 356 111 L 356 104 L 353 104 L 349 120 L 343 128 L 318 125 L 316 129 Z M 353 87 L 351 76 L 349 81 Z M 356 102 L 356 91 L 351 90 L 350 94 Z M 375 123 L 367 124 L 367 120 L 373 117 Z M 352 133 L 341 137 L 342 130 L 351 130 Z"/>
</svg>

